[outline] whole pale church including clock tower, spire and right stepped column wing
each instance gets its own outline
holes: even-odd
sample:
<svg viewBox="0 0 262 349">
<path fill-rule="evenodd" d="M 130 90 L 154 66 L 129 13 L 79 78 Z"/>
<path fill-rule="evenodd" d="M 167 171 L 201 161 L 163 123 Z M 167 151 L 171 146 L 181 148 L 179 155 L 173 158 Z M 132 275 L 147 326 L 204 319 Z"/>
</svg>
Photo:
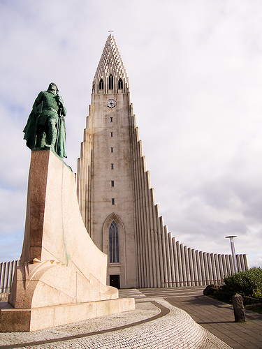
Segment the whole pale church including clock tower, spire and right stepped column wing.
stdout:
<svg viewBox="0 0 262 349">
<path fill-rule="evenodd" d="M 138 137 L 129 79 L 112 34 L 94 75 L 77 186 L 87 231 L 108 255 L 108 284 L 205 285 L 234 272 L 231 255 L 188 248 L 163 225 Z M 247 255 L 238 255 L 237 265 L 247 269 Z"/>
</svg>

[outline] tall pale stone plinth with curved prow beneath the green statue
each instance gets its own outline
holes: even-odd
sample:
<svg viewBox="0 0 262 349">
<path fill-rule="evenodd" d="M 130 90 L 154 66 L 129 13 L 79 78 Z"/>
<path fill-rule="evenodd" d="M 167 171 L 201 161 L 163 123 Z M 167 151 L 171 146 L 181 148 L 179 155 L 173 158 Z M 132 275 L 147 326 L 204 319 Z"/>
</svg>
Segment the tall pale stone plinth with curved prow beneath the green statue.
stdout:
<svg viewBox="0 0 262 349">
<path fill-rule="evenodd" d="M 107 255 L 85 228 L 75 175 L 49 150 L 32 151 L 21 264 L 0 331 L 23 332 L 134 309 L 106 285 Z"/>
</svg>

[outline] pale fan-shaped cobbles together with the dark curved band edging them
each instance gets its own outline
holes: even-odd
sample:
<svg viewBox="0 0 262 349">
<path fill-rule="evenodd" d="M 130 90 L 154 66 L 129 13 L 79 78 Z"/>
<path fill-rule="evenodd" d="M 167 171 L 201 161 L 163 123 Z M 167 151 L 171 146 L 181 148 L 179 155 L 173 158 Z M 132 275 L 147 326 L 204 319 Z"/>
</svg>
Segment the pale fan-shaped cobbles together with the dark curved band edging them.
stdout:
<svg viewBox="0 0 262 349">
<path fill-rule="evenodd" d="M 151 302 L 161 312 L 129 325 L 85 334 L 74 334 L 59 339 L 1 346 L 0 348 L 231 348 L 194 322 L 185 311 L 175 308 L 164 299 L 147 298 L 143 301 Z"/>
</svg>

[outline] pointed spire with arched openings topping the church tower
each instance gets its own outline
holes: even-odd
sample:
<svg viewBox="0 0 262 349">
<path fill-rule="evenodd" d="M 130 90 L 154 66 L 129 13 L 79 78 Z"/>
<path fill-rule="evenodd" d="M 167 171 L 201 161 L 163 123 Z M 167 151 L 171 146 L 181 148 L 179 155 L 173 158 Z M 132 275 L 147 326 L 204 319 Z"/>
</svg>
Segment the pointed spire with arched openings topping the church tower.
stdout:
<svg viewBox="0 0 262 349">
<path fill-rule="evenodd" d="M 128 89 L 129 78 L 115 38 L 110 34 L 94 75 L 93 94 L 126 93 Z"/>
</svg>

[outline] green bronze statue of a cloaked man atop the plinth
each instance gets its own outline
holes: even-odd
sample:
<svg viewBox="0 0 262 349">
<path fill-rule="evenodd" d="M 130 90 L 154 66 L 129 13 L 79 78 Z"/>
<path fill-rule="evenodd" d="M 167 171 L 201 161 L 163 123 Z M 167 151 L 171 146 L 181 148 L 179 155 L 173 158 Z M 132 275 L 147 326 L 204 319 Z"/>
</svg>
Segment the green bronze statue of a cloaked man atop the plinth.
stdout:
<svg viewBox="0 0 262 349">
<path fill-rule="evenodd" d="M 31 150 L 47 147 L 66 158 L 66 107 L 57 92 L 57 85 L 51 82 L 47 91 L 38 94 L 23 132 Z"/>
</svg>

